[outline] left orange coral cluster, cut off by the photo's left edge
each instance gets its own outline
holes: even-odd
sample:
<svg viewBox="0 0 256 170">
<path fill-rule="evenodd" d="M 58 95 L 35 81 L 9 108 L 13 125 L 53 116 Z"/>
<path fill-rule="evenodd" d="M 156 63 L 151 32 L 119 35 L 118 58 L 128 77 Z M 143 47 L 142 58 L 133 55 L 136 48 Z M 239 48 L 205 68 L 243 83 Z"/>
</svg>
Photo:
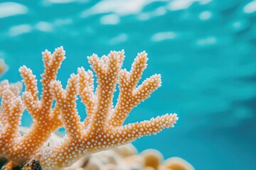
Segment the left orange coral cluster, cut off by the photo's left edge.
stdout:
<svg viewBox="0 0 256 170">
<path fill-rule="evenodd" d="M 56 74 L 61 62 L 65 59 L 63 48 L 55 50 L 53 55 L 47 50 L 43 52 L 44 73 L 42 79 L 41 101 L 38 99 L 36 76 L 31 69 L 23 66 L 19 69 L 23 83 L 26 86 L 21 96 L 19 84 L 9 84 L 2 81 L 0 84 L 1 110 L 0 110 L 0 148 L 1 154 L 17 164 L 22 164 L 31 159 L 38 149 L 50 137 L 50 133 L 61 125 L 60 109 L 55 106 L 52 110 L 53 95 L 50 94 L 50 81 L 56 79 Z M 31 114 L 33 124 L 26 135 L 21 135 L 21 115 L 24 109 Z"/>
</svg>

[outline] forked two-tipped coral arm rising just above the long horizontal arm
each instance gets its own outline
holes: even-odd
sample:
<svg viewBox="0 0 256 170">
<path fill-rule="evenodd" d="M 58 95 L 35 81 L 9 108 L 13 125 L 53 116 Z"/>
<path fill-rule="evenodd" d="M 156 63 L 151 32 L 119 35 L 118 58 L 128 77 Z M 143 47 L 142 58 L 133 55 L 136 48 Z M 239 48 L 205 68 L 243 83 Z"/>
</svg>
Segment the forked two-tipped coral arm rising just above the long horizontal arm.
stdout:
<svg viewBox="0 0 256 170">
<path fill-rule="evenodd" d="M 135 58 L 132 69 L 127 72 L 126 69 L 119 73 L 119 97 L 117 105 L 112 111 L 108 120 L 108 125 L 118 127 L 124 123 L 127 115 L 132 111 L 132 108 L 144 101 L 161 86 L 160 74 L 155 74 L 144 80 L 142 84 L 135 89 L 142 73 L 146 69 L 146 52 L 138 53 Z"/>
</svg>

